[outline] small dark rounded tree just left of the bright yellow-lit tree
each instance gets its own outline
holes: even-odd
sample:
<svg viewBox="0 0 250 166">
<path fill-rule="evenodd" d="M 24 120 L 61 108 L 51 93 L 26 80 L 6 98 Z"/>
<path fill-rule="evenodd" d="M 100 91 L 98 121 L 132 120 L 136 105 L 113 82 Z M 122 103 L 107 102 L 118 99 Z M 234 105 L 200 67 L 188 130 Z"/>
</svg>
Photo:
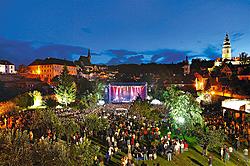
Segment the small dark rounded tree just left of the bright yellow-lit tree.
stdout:
<svg viewBox="0 0 250 166">
<path fill-rule="evenodd" d="M 30 93 L 26 92 L 15 98 L 16 105 L 21 108 L 28 108 L 34 104 L 33 97 Z"/>
</svg>

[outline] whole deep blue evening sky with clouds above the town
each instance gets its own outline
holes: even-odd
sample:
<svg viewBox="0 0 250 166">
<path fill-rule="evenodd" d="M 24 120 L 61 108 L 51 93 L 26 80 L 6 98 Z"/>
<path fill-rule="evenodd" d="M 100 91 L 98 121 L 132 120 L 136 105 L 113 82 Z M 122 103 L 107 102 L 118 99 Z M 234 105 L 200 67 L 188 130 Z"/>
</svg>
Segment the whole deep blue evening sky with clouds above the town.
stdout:
<svg viewBox="0 0 250 166">
<path fill-rule="evenodd" d="M 77 59 L 93 63 L 171 63 L 188 55 L 250 53 L 247 0 L 0 0 L 0 59 Z"/>
</svg>

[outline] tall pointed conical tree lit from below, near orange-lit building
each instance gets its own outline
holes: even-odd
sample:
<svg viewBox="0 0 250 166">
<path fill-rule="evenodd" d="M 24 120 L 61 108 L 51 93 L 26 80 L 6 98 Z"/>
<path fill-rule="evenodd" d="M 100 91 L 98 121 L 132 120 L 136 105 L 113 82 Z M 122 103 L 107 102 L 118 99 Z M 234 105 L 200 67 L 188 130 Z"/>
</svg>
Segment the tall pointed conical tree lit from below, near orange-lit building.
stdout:
<svg viewBox="0 0 250 166">
<path fill-rule="evenodd" d="M 57 101 L 67 107 L 68 104 L 75 101 L 76 84 L 69 75 L 68 69 L 64 66 L 59 77 L 59 84 L 55 89 Z"/>
</svg>

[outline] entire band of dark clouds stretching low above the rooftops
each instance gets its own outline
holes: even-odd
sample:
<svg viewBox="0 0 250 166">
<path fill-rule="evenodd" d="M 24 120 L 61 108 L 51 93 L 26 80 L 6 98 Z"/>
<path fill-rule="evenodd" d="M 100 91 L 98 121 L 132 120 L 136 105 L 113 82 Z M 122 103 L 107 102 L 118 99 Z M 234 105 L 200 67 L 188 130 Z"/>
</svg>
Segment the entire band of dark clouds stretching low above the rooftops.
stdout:
<svg viewBox="0 0 250 166">
<path fill-rule="evenodd" d="M 235 34 L 235 37 L 242 34 Z M 0 37 L 0 59 L 7 59 L 15 64 L 29 64 L 36 58 L 55 57 L 76 60 L 80 55 L 87 55 L 87 48 L 63 44 L 8 40 Z M 191 50 L 157 49 L 131 51 L 126 49 L 108 49 L 100 53 L 91 51 L 92 63 L 97 64 L 141 64 L 141 63 L 177 63 L 186 56 L 192 58 L 216 59 L 221 57 L 221 48 L 208 45 L 200 53 Z"/>
</svg>

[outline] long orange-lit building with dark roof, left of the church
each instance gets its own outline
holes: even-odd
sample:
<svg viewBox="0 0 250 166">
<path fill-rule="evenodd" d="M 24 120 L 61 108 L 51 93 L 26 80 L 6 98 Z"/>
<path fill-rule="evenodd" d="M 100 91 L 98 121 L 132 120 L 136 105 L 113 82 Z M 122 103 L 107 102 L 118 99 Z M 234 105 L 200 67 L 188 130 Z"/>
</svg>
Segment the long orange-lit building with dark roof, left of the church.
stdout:
<svg viewBox="0 0 250 166">
<path fill-rule="evenodd" d="M 44 60 L 36 59 L 32 62 L 29 68 L 29 74 L 35 75 L 41 81 L 50 83 L 51 80 L 60 75 L 63 67 L 67 66 L 69 74 L 77 75 L 76 66 L 72 61 L 56 59 L 56 58 L 46 58 Z"/>
</svg>

